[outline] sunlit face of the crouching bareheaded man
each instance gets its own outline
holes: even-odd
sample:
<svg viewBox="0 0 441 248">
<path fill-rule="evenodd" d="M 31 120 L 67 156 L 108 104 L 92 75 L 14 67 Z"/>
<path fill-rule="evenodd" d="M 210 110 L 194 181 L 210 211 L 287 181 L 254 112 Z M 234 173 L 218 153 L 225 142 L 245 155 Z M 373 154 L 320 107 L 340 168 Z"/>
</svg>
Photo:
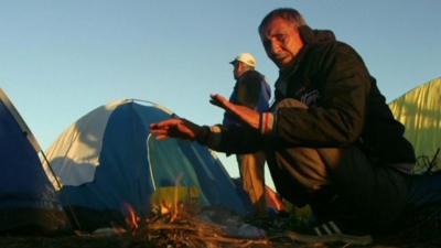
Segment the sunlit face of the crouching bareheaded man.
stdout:
<svg viewBox="0 0 441 248">
<path fill-rule="evenodd" d="M 293 23 L 281 18 L 272 19 L 260 33 L 265 51 L 279 67 L 292 65 L 303 47 L 303 41 Z"/>
</svg>

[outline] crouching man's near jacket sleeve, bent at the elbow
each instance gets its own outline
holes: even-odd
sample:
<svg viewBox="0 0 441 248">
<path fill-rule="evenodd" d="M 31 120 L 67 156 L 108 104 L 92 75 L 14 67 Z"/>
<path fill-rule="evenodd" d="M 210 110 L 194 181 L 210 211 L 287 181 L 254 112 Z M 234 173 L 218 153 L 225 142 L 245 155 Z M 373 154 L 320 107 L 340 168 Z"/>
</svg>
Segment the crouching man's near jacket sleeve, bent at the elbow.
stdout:
<svg viewBox="0 0 441 248">
<path fill-rule="evenodd" d="M 344 147 L 361 136 L 370 76 L 357 53 L 343 43 L 318 60 L 319 100 L 308 109 L 280 108 L 271 134 L 284 145 Z"/>
</svg>

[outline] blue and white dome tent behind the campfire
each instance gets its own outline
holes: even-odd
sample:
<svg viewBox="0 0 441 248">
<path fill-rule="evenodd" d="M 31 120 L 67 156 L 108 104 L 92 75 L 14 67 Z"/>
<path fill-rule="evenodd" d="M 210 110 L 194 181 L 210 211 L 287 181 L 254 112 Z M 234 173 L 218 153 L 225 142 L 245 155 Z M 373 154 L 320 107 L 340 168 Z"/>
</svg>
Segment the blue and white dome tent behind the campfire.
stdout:
<svg viewBox="0 0 441 248">
<path fill-rule="evenodd" d="M 196 188 L 202 205 L 248 213 L 208 149 L 150 134 L 150 123 L 172 116 L 155 104 L 118 100 L 88 112 L 52 144 L 47 159 L 63 184 L 62 204 L 75 213 L 78 228 L 123 224 L 126 206 L 144 217 L 153 192 L 178 185 Z"/>
</svg>

